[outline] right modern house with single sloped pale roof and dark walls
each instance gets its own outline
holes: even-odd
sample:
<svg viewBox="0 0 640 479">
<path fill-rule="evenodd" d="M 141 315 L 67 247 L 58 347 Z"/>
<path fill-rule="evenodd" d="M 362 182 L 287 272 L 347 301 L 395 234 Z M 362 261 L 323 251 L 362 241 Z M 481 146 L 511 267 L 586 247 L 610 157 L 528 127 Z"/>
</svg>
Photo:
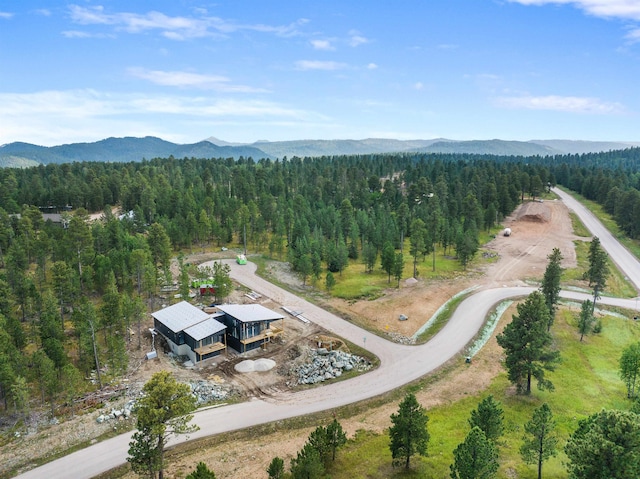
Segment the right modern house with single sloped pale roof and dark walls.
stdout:
<svg viewBox="0 0 640 479">
<path fill-rule="evenodd" d="M 260 304 L 223 304 L 219 318 L 227 327 L 227 344 L 240 353 L 257 349 L 284 332 L 284 316 Z"/>
</svg>

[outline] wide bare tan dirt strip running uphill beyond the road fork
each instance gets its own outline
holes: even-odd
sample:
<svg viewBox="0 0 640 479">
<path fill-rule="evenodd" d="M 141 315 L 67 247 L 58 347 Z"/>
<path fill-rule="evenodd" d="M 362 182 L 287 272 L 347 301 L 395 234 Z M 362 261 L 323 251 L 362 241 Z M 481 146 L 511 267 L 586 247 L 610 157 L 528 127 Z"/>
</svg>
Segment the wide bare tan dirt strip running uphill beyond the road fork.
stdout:
<svg viewBox="0 0 640 479">
<path fill-rule="evenodd" d="M 471 270 L 464 277 L 447 280 L 406 283 L 400 289 L 389 288 L 374 301 L 333 300 L 332 306 L 357 316 L 369 328 L 410 337 L 454 294 L 473 286 L 501 287 L 537 282 L 544 274 L 547 256 L 559 248 L 563 267 L 575 266 L 575 236 L 567 207 L 561 201 L 528 202 L 503 222 L 511 236 L 496 236 L 483 250 L 496 253 L 498 260 Z M 400 314 L 408 317 L 398 321 Z"/>
</svg>

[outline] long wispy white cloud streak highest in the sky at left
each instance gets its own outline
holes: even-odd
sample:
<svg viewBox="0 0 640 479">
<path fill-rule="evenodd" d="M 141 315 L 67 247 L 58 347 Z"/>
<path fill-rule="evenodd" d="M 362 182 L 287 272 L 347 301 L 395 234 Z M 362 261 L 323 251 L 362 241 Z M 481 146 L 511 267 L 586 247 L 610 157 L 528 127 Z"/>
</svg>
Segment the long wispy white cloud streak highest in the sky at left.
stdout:
<svg viewBox="0 0 640 479">
<path fill-rule="evenodd" d="M 288 25 L 239 24 L 219 17 L 206 16 L 206 12 L 196 10 L 200 16 L 169 16 L 161 12 L 147 13 L 106 13 L 104 7 L 82 7 L 70 5 L 71 20 L 80 25 L 110 25 L 116 30 L 128 33 L 159 31 L 171 40 L 186 40 L 210 36 L 226 36 L 237 31 L 272 33 L 278 36 L 292 36 L 299 33 L 299 27 L 308 22 L 300 19 Z"/>
</svg>

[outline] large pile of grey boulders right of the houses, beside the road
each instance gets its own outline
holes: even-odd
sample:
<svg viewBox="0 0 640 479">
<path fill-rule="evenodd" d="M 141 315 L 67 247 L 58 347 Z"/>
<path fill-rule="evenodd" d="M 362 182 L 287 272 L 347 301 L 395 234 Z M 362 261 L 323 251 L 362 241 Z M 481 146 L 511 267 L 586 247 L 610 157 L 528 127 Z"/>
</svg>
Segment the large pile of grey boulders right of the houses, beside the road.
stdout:
<svg viewBox="0 0 640 479">
<path fill-rule="evenodd" d="M 312 349 L 307 360 L 291 367 L 292 380 L 287 384 L 316 384 L 342 376 L 345 371 L 367 371 L 371 363 L 366 359 L 343 351 L 327 351 L 325 348 Z"/>
</svg>

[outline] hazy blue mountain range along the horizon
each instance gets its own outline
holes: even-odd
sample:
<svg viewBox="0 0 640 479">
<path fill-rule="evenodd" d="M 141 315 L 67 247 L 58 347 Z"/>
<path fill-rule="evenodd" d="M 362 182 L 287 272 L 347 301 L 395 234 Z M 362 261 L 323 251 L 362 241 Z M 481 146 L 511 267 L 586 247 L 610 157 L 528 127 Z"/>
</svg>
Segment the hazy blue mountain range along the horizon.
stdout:
<svg viewBox="0 0 640 479">
<path fill-rule="evenodd" d="M 596 142 L 570 140 L 295 140 L 228 143 L 215 137 L 181 145 L 147 136 L 145 138 L 107 138 L 94 143 L 37 146 L 8 143 L 0 146 L 0 167 L 28 167 L 73 161 L 130 162 L 152 158 L 262 158 L 365 155 L 375 153 L 470 153 L 508 156 L 548 156 L 623 150 L 640 142 Z"/>
</svg>

